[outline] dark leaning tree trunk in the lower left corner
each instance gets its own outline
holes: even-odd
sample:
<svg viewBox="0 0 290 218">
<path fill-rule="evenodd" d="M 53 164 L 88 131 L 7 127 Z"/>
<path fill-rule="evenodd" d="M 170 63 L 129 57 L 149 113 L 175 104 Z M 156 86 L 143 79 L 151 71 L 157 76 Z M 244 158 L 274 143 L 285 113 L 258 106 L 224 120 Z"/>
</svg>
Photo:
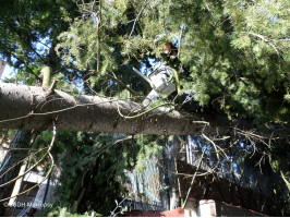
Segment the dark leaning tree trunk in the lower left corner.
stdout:
<svg viewBox="0 0 290 218">
<path fill-rule="evenodd" d="M 15 165 L 8 173 L 3 174 L 2 173 L 9 169 L 11 166 L 14 164 L 17 164 L 21 159 L 25 158 L 27 155 L 28 149 L 13 149 L 13 148 L 28 148 L 29 143 L 32 138 L 32 131 L 29 130 L 17 130 L 11 144 L 10 144 L 10 150 L 7 155 L 5 158 L 0 167 L 0 184 L 4 184 L 12 179 L 16 178 L 20 172 L 21 165 L 23 162 L 20 162 L 19 165 Z M 1 177 L 2 175 L 2 177 Z M 0 199 L 4 199 L 7 197 L 11 196 L 11 193 L 14 187 L 14 183 L 12 182 L 9 185 L 5 185 L 3 187 L 0 187 Z M 0 203 L 0 216 L 4 216 L 4 202 Z"/>
</svg>

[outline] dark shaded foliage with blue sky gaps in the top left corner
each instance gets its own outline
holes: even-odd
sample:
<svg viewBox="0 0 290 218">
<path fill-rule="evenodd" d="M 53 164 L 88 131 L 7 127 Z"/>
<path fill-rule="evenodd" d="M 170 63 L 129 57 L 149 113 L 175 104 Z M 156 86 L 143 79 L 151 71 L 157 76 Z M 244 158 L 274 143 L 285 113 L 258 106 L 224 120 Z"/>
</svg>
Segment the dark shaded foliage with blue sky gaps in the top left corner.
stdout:
<svg viewBox="0 0 290 218">
<path fill-rule="evenodd" d="M 76 8 L 71 0 L 1 2 L 0 57 L 14 68 L 19 82 L 40 85 L 40 70 L 46 63 L 53 74 L 64 71 L 55 46 L 57 36 L 69 27 L 63 16 L 76 16 Z M 71 80 L 80 70 L 67 68 L 65 73 Z"/>
</svg>

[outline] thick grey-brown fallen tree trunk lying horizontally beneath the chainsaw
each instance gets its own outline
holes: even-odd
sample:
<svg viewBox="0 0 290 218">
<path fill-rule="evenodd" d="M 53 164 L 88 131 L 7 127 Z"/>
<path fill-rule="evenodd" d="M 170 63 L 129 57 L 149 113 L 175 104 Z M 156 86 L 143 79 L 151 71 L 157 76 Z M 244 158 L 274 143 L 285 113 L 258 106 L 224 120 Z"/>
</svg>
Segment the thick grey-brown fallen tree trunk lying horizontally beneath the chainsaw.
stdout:
<svg viewBox="0 0 290 218">
<path fill-rule="evenodd" d="M 0 129 L 50 130 L 56 120 L 60 131 L 116 132 L 129 134 L 219 134 L 249 130 L 249 123 L 232 123 L 222 116 L 183 114 L 158 108 L 144 116 L 126 119 L 144 111 L 133 101 L 98 96 L 72 96 L 61 90 L 47 95 L 41 87 L 0 84 Z"/>
</svg>

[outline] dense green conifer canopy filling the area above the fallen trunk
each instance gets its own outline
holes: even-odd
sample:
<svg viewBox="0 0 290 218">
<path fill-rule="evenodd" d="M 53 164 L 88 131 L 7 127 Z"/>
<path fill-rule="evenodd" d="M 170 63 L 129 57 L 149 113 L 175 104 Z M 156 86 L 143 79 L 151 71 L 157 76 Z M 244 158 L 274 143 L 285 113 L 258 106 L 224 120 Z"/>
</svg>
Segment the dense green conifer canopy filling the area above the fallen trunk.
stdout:
<svg viewBox="0 0 290 218">
<path fill-rule="evenodd" d="M 201 106 L 214 105 L 230 119 L 288 123 L 287 1 L 3 4 L 1 53 L 21 70 L 17 76 L 38 76 L 50 61 L 58 66 L 55 73 L 70 78 L 90 73 L 90 86 L 100 86 L 97 81 L 113 73 L 142 92 L 131 66 L 148 63 L 146 57 L 158 59 L 165 44 L 172 41 L 179 60 L 168 61 L 180 71 L 182 90 L 198 93 Z"/>
</svg>

